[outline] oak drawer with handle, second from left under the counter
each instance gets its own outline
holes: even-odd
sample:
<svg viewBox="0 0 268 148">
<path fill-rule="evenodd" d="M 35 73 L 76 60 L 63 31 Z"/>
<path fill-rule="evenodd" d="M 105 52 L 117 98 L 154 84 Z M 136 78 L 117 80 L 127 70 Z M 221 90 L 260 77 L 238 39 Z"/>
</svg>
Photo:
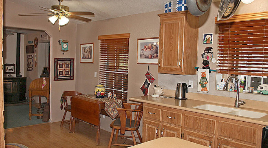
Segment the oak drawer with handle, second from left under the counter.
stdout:
<svg viewBox="0 0 268 148">
<path fill-rule="evenodd" d="M 162 110 L 162 121 L 181 126 L 181 113 Z"/>
</svg>

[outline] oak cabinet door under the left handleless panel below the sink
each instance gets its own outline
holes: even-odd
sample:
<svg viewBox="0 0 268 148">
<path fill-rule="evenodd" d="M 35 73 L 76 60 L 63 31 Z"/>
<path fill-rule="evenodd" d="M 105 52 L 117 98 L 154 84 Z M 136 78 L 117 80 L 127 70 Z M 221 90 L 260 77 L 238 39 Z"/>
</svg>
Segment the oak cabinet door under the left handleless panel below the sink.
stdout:
<svg viewBox="0 0 268 148">
<path fill-rule="evenodd" d="M 207 147 L 209 147 L 209 145 L 211 144 L 211 147 L 214 147 L 214 136 L 184 130 L 183 139 L 197 143 L 197 144 L 201 144 Z"/>
</svg>

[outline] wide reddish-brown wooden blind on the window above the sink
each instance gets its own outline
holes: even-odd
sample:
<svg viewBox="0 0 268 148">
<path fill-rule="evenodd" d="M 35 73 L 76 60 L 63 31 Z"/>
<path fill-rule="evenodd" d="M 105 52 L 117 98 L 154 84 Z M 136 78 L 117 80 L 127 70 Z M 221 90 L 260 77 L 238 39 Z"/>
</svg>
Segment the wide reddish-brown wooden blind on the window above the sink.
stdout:
<svg viewBox="0 0 268 148">
<path fill-rule="evenodd" d="M 219 24 L 218 70 L 268 76 L 268 19 Z"/>
</svg>

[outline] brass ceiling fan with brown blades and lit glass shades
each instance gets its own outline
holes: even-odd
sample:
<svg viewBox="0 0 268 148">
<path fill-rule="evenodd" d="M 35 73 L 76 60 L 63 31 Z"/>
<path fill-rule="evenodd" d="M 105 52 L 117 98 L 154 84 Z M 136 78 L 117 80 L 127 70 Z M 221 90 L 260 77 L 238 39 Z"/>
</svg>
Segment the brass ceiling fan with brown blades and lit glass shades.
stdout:
<svg viewBox="0 0 268 148">
<path fill-rule="evenodd" d="M 90 22 L 91 19 L 85 18 L 85 17 L 80 17 L 77 15 L 86 15 L 86 16 L 90 16 L 90 17 L 94 17 L 94 13 L 92 12 L 85 12 L 85 11 L 69 11 L 69 7 L 68 6 L 64 6 L 61 5 L 61 2 L 63 0 L 58 0 L 60 2 L 59 5 L 53 5 L 51 6 L 51 8 L 46 8 L 46 7 L 40 7 L 43 8 L 41 10 L 44 11 L 49 11 L 50 13 L 25 13 L 25 14 L 18 14 L 19 16 L 29 16 L 29 15 L 48 15 L 48 16 L 52 16 L 49 17 L 49 21 L 52 24 L 55 24 L 55 22 L 57 21 L 57 19 L 59 19 L 59 26 L 65 25 L 69 22 L 69 18 L 72 19 L 76 19 L 76 20 L 80 20 L 80 21 L 84 21 L 84 22 Z"/>
</svg>

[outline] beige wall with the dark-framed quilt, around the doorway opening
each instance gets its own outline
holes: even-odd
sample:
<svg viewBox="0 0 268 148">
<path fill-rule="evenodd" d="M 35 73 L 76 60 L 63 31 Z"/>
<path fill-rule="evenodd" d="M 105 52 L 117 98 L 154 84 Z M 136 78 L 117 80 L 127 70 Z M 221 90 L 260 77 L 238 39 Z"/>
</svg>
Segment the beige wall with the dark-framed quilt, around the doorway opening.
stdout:
<svg viewBox="0 0 268 148">
<path fill-rule="evenodd" d="M 54 58 L 75 58 L 76 55 L 76 24 L 69 22 L 61 27 L 59 32 L 57 22 L 52 25 L 47 16 L 18 16 L 19 13 L 40 13 L 28 7 L 15 4 L 10 1 L 4 3 L 4 26 L 15 28 L 28 28 L 44 30 L 51 37 L 51 63 L 50 63 L 50 110 L 51 120 L 60 121 L 63 110 L 60 110 L 60 97 L 63 91 L 75 90 L 75 79 L 71 81 L 53 81 Z M 62 38 L 69 41 L 69 51 L 62 54 L 58 40 Z M 76 63 L 74 63 L 76 64 Z M 75 66 L 74 66 L 75 67 Z M 76 74 L 76 72 L 74 72 Z"/>
</svg>

